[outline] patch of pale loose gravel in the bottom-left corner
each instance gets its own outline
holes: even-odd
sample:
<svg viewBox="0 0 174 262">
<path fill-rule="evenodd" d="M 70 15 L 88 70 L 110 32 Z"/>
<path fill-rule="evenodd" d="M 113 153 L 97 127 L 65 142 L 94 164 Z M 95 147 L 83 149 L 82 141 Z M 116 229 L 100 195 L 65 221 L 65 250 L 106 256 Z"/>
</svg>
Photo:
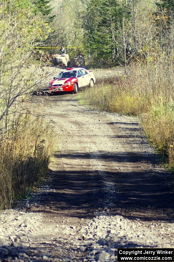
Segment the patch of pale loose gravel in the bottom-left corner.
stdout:
<svg viewBox="0 0 174 262">
<path fill-rule="evenodd" d="M 11 209 L 3 211 L 0 220 L 0 261 L 26 258 L 25 249 L 41 227 L 42 215 Z"/>
</svg>

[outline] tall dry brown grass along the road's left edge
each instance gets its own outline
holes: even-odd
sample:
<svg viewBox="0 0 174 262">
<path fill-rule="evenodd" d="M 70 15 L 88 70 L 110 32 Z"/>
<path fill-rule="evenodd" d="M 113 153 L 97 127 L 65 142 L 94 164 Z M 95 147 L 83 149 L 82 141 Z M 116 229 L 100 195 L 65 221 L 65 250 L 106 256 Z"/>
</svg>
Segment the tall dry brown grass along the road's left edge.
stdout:
<svg viewBox="0 0 174 262">
<path fill-rule="evenodd" d="M 47 122 L 26 116 L 0 143 L 0 209 L 11 208 L 45 176 L 53 148 Z"/>
</svg>

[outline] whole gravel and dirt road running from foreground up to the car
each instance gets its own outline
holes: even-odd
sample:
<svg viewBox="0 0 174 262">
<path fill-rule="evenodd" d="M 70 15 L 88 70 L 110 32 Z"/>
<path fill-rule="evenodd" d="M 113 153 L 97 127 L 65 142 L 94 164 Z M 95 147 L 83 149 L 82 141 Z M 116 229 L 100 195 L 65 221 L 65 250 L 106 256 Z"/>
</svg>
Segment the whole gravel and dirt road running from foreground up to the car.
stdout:
<svg viewBox="0 0 174 262">
<path fill-rule="evenodd" d="M 2 261 L 117 261 L 118 247 L 173 247 L 170 176 L 137 119 L 76 97 L 33 98 L 58 134 L 51 176 L 3 212 Z"/>
</svg>

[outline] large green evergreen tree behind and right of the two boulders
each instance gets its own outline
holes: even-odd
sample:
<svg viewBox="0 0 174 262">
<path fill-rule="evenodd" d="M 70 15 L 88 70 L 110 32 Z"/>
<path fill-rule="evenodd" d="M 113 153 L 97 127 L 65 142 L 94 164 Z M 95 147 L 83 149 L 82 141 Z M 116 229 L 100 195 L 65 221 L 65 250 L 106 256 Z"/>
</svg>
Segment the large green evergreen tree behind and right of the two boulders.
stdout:
<svg viewBox="0 0 174 262">
<path fill-rule="evenodd" d="M 91 0 L 83 14 L 85 47 L 93 59 L 111 64 L 118 59 L 118 23 L 128 18 L 126 1 Z"/>
</svg>

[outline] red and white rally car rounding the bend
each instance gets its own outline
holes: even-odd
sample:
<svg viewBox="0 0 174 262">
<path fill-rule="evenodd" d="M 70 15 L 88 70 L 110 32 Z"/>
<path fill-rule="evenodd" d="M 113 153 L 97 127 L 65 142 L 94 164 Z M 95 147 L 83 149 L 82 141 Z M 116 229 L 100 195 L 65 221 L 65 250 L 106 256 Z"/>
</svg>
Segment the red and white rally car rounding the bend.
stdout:
<svg viewBox="0 0 174 262">
<path fill-rule="evenodd" d="M 67 68 L 60 72 L 57 77 L 54 77 L 49 83 L 49 93 L 54 92 L 78 92 L 79 88 L 89 86 L 93 87 L 95 84 L 95 76 L 92 71 L 84 68 Z"/>
</svg>

